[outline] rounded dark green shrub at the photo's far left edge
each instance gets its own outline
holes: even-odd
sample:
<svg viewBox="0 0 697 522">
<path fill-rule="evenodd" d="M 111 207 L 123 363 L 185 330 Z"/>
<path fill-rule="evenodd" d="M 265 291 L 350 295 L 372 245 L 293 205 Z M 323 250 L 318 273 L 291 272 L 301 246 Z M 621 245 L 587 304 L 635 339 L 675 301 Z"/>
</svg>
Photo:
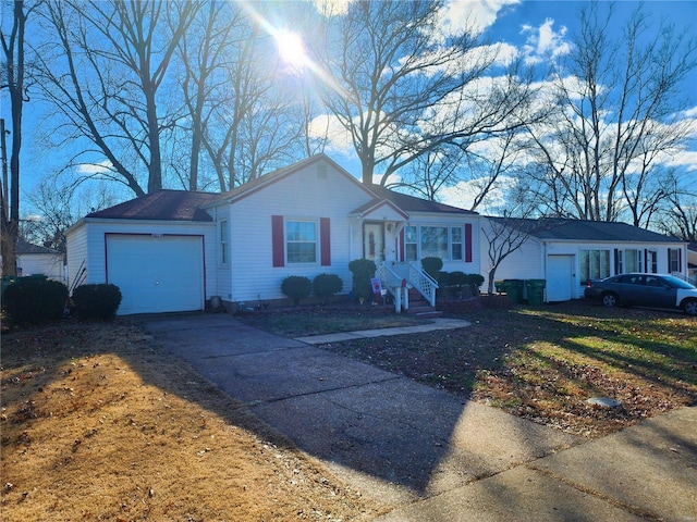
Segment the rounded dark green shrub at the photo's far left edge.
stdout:
<svg viewBox="0 0 697 522">
<path fill-rule="evenodd" d="M 68 287 L 46 277 L 17 277 L 2 293 L 2 308 L 16 325 L 61 319 L 66 302 Z"/>
</svg>

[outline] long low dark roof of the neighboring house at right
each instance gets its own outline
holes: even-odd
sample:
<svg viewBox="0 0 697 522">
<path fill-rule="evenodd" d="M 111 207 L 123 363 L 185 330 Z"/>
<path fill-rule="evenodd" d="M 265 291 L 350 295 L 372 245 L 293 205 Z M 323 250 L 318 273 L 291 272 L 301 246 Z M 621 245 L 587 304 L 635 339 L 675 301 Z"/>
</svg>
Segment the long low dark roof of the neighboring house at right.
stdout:
<svg viewBox="0 0 697 522">
<path fill-rule="evenodd" d="M 488 216 L 498 223 L 506 223 L 542 240 L 577 240 L 611 243 L 685 243 L 671 236 L 639 228 L 627 223 L 584 221 L 563 217 L 524 220 Z"/>
</svg>

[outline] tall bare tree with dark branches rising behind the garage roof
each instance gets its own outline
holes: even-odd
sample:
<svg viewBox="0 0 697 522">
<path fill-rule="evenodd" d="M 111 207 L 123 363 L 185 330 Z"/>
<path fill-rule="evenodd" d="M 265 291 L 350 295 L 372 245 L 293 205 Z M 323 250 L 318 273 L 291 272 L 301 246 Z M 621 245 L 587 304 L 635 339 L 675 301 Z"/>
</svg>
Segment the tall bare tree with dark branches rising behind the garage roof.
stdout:
<svg viewBox="0 0 697 522">
<path fill-rule="evenodd" d="M 136 196 L 162 188 L 161 135 L 181 115 L 160 110 L 167 105 L 161 88 L 198 8 L 157 0 L 47 4 L 57 53 L 42 62 L 45 96 L 64 116 L 64 139 L 86 138 L 94 146 L 74 161 L 106 159 L 106 165 L 97 160 L 101 175 Z"/>
</svg>

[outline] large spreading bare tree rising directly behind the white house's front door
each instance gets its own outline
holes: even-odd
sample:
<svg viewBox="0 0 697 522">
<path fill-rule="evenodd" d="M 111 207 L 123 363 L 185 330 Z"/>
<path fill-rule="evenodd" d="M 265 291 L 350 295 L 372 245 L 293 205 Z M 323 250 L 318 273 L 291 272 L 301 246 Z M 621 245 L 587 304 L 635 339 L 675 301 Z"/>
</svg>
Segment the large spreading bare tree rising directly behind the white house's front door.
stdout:
<svg viewBox="0 0 697 522">
<path fill-rule="evenodd" d="M 356 1 L 329 18 L 329 54 L 321 60 L 333 79 L 325 101 L 351 135 L 364 183 L 379 173 L 386 185 L 443 144 L 465 149 L 519 125 L 516 112 L 531 95 L 522 71 L 487 77 L 497 48 L 481 45 L 473 30 L 443 35 L 442 7 Z"/>
</svg>

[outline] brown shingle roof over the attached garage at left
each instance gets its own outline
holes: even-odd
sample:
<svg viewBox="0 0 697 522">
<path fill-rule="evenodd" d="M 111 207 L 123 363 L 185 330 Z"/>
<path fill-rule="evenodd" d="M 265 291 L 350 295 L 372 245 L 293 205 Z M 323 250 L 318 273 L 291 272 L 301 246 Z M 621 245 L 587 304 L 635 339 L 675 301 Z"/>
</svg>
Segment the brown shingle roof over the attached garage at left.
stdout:
<svg viewBox="0 0 697 522">
<path fill-rule="evenodd" d="M 87 217 L 212 221 L 200 207 L 219 198 L 219 194 L 186 190 L 158 190 L 121 204 L 87 214 Z"/>
</svg>

